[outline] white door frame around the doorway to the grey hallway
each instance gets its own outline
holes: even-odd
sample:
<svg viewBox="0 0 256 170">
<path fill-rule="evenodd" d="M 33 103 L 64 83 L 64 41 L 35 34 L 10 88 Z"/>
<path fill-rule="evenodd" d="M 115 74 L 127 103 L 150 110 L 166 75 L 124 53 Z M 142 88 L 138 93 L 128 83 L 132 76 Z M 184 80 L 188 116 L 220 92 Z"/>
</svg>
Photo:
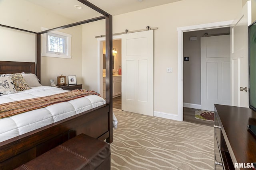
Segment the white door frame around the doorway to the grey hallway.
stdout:
<svg viewBox="0 0 256 170">
<path fill-rule="evenodd" d="M 177 27 L 178 31 L 178 117 L 174 120 L 183 121 L 183 32 L 199 31 L 223 27 L 231 27 L 233 20 Z"/>
</svg>

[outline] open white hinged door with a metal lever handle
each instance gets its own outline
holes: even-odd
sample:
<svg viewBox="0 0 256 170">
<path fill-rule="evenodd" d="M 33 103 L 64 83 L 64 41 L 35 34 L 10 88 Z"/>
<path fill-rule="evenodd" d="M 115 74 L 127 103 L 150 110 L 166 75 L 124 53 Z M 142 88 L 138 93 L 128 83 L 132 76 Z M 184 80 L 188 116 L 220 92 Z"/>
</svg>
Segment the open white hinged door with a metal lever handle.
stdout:
<svg viewBox="0 0 256 170">
<path fill-rule="evenodd" d="M 242 13 L 231 27 L 231 82 L 232 105 L 248 107 L 248 26 L 251 23 L 251 1 L 246 2 Z"/>
</svg>

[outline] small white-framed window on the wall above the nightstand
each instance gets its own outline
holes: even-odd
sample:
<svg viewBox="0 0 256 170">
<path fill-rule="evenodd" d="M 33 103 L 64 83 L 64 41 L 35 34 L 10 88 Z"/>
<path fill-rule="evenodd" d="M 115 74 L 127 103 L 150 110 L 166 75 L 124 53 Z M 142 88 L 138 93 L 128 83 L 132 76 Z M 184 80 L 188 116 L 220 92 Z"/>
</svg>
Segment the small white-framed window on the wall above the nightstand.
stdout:
<svg viewBox="0 0 256 170">
<path fill-rule="evenodd" d="M 43 34 L 42 56 L 71 59 L 71 37 L 59 31 Z"/>
</svg>

